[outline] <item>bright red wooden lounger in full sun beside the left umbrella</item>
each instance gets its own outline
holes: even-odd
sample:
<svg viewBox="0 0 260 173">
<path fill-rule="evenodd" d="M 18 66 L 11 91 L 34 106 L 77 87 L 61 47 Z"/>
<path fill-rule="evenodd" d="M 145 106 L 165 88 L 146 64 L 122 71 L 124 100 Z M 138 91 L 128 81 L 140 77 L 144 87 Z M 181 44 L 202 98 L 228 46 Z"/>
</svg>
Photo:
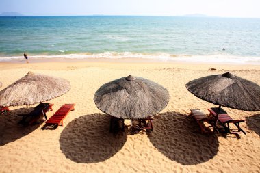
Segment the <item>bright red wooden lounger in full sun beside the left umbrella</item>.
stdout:
<svg viewBox="0 0 260 173">
<path fill-rule="evenodd" d="M 75 104 L 65 104 L 58 109 L 47 122 L 45 122 L 47 125 L 57 125 L 57 126 L 63 126 L 63 120 L 66 118 L 68 113 L 70 111 L 74 110 Z"/>
</svg>

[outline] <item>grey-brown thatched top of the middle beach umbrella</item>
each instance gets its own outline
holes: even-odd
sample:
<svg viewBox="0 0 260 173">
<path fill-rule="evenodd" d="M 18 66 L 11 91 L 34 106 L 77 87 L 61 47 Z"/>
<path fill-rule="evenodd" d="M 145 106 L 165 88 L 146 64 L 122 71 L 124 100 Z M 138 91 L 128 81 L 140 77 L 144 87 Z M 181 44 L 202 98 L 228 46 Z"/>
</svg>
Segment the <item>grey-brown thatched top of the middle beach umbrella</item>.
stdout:
<svg viewBox="0 0 260 173">
<path fill-rule="evenodd" d="M 105 83 L 94 94 L 96 107 L 124 119 L 153 116 L 166 107 L 169 98 L 163 86 L 131 75 Z"/>
</svg>

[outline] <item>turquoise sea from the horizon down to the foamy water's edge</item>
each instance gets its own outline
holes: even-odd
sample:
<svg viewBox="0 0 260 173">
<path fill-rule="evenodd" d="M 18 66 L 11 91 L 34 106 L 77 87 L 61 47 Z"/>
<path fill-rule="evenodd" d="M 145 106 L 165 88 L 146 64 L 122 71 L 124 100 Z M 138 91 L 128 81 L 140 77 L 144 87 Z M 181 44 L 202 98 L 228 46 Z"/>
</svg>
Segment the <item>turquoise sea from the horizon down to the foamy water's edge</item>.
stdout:
<svg viewBox="0 0 260 173">
<path fill-rule="evenodd" d="M 225 51 L 222 48 L 225 47 Z M 260 18 L 0 17 L 0 60 L 152 58 L 260 63 Z"/>
</svg>

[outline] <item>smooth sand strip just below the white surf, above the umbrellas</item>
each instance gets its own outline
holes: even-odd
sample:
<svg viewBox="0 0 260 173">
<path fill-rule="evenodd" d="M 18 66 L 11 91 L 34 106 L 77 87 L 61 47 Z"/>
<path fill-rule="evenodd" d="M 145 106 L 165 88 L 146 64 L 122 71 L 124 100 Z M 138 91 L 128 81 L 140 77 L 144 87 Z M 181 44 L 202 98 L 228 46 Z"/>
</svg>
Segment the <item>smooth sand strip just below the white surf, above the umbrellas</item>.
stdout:
<svg viewBox="0 0 260 173">
<path fill-rule="evenodd" d="M 216 63 L 216 62 L 163 62 L 156 59 L 29 59 L 27 64 L 25 59 L 14 60 L 9 62 L 0 62 L 0 70 L 8 70 L 14 68 L 29 68 L 31 70 L 75 70 L 77 68 L 88 67 L 107 67 L 111 64 L 114 68 L 125 66 L 127 69 L 153 69 L 156 67 L 164 68 L 183 68 L 191 70 L 260 70 L 260 65 L 254 64 L 231 64 L 231 63 Z M 216 70 L 214 70 L 216 69 Z"/>
</svg>

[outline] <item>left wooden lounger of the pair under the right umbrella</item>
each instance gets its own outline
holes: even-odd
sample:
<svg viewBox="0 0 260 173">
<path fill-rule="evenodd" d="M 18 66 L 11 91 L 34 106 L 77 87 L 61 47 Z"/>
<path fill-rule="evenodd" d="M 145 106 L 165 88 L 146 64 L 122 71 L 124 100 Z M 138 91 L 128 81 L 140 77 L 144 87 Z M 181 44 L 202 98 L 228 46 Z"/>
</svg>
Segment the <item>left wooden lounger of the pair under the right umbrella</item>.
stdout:
<svg viewBox="0 0 260 173">
<path fill-rule="evenodd" d="M 211 116 L 207 116 L 203 111 L 200 109 L 190 109 L 190 115 L 194 117 L 198 126 L 200 127 L 200 133 L 211 133 L 209 127 L 206 127 L 204 122 L 208 122 L 209 124 L 213 124 L 216 118 Z"/>
</svg>

